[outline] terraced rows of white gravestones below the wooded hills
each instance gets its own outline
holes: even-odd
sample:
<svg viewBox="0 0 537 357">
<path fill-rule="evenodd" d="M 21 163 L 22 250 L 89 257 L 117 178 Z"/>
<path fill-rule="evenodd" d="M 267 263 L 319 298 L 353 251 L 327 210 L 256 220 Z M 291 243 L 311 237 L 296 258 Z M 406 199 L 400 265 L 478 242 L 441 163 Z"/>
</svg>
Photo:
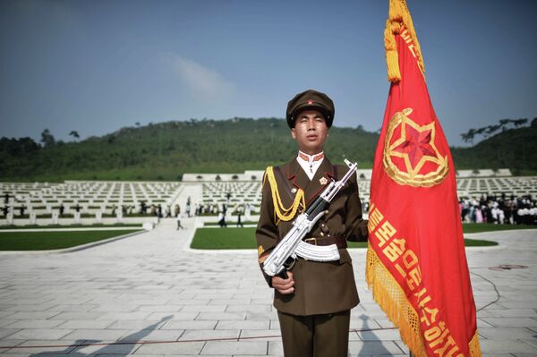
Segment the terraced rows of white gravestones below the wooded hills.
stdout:
<svg viewBox="0 0 537 357">
<path fill-rule="evenodd" d="M 362 203 L 369 201 L 371 169 L 357 172 Z M 93 225 L 156 223 L 158 208 L 164 217 L 174 215 L 175 204 L 184 213 L 187 197 L 195 206 L 228 208 L 249 206 L 259 212 L 262 171 L 243 174 L 184 174 L 178 182 L 0 183 L 0 225 Z M 537 199 L 537 177 L 513 176 L 508 169 L 459 170 L 456 173 L 459 198 L 502 194 Z M 184 195 L 189 187 L 197 191 Z M 180 198 L 183 197 L 183 200 Z"/>
</svg>

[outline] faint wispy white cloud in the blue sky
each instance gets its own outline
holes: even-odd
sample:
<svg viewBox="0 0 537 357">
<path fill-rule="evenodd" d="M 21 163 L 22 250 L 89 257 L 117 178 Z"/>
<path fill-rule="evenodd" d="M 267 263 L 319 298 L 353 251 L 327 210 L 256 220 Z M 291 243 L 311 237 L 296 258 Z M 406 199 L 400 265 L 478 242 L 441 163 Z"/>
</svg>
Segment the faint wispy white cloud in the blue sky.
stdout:
<svg viewBox="0 0 537 357">
<path fill-rule="evenodd" d="M 229 99 L 234 96 L 236 90 L 234 83 L 227 81 L 217 71 L 180 55 L 168 55 L 167 57 L 174 72 L 193 96 L 212 100 Z"/>
</svg>

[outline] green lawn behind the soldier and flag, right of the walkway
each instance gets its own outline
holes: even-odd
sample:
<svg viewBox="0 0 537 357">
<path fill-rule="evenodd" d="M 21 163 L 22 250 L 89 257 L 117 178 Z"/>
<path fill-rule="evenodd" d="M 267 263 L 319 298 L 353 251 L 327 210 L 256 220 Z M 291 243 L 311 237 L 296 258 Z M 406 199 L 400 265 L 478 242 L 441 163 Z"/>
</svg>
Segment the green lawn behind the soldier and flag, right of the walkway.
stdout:
<svg viewBox="0 0 537 357">
<path fill-rule="evenodd" d="M 507 229 L 537 229 L 532 225 L 464 224 L 465 233 L 503 231 Z M 367 242 L 348 242 L 349 248 L 367 248 Z M 498 245 L 498 242 L 465 239 L 466 247 Z M 198 228 L 192 240 L 193 249 L 257 249 L 255 227 Z"/>
</svg>

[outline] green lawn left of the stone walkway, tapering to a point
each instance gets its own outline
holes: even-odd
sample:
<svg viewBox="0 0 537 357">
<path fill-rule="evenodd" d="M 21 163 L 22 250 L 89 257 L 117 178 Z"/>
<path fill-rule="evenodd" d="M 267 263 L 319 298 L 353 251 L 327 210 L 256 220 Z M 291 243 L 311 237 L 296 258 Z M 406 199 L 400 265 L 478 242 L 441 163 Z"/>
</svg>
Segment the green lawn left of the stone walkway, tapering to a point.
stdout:
<svg viewBox="0 0 537 357">
<path fill-rule="evenodd" d="M 0 251 L 45 251 L 98 242 L 140 229 L 76 232 L 0 232 Z"/>
</svg>

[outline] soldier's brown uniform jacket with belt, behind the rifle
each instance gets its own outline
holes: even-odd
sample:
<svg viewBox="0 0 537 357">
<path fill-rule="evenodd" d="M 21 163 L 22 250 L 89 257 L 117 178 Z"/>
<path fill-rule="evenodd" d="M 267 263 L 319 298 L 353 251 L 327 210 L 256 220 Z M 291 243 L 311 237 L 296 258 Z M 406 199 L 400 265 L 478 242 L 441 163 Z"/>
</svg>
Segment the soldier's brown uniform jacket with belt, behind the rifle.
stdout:
<svg viewBox="0 0 537 357">
<path fill-rule="evenodd" d="M 320 182 L 321 177 L 325 177 L 329 182 L 332 178 L 340 179 L 348 171 L 347 166 L 333 166 L 327 157 L 311 181 L 296 158 L 286 165 L 279 166 L 279 169 L 283 175 L 277 174 L 275 169 L 275 178 L 284 206 L 290 207 L 292 204 L 289 190 L 286 188 L 288 185 L 290 188 L 303 189 L 306 208 L 325 188 Z M 367 221 L 362 219 L 362 204 L 358 197 L 356 175 L 353 175 L 337 193 L 327 210 L 328 214 L 320 218 L 307 237 L 322 239 L 329 234 L 343 236 L 349 241 L 367 240 Z M 261 257 L 268 255 L 277 242 L 284 238 L 291 229 L 293 220 L 275 224 L 270 183 L 265 179 L 262 187 L 260 221 L 256 229 Z M 294 274 L 294 293 L 284 295 L 275 290 L 274 306 L 277 310 L 307 316 L 350 310 L 356 306 L 359 300 L 354 283 L 352 259 L 346 249 L 340 249 L 339 255 L 339 261 L 331 262 L 297 259 L 291 268 Z M 270 285 L 271 276 L 267 276 L 264 272 L 263 275 Z"/>
</svg>

